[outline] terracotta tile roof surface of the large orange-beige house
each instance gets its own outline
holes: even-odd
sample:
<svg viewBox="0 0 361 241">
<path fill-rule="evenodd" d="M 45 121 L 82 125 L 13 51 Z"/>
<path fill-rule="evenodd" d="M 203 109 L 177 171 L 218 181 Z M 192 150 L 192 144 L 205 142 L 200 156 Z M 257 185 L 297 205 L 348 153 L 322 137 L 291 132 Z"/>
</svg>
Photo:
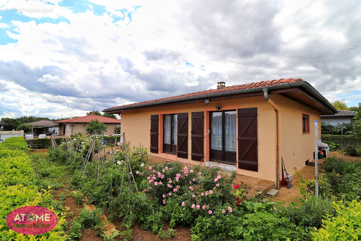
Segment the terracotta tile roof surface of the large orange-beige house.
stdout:
<svg viewBox="0 0 361 241">
<path fill-rule="evenodd" d="M 187 98 L 187 97 L 209 95 L 209 94 L 229 92 L 229 91 L 235 91 L 235 90 L 264 88 L 264 87 L 269 87 L 269 86 L 284 85 L 286 83 L 293 83 L 293 82 L 300 82 L 300 81 L 303 81 L 303 79 L 277 79 L 277 80 L 261 81 L 261 82 L 256 82 L 256 83 L 243 84 L 243 85 L 232 85 L 232 86 L 222 87 L 221 89 L 204 90 L 204 91 L 200 91 L 200 92 L 166 97 L 166 98 L 162 98 L 162 99 L 147 100 L 147 101 L 143 101 L 143 102 L 127 104 L 124 106 L 116 106 L 116 107 L 112 107 L 112 108 L 108 108 L 108 109 L 104 109 L 104 110 L 127 107 L 127 106 L 137 106 L 139 104 L 145 104 L 145 103 L 157 103 L 157 102 L 161 102 L 164 100 L 182 99 L 182 98 Z"/>
</svg>

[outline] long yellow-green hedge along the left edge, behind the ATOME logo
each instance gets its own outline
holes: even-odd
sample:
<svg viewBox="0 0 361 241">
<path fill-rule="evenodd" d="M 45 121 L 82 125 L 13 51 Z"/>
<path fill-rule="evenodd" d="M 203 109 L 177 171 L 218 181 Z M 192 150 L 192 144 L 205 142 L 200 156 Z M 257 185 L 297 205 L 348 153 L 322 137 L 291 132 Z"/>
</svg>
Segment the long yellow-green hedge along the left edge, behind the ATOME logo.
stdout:
<svg viewBox="0 0 361 241">
<path fill-rule="evenodd" d="M 65 241 L 63 226 L 66 213 L 52 199 L 51 190 L 38 190 L 38 176 L 26 154 L 27 150 L 25 140 L 21 137 L 8 138 L 0 143 L 0 240 Z M 58 217 L 57 225 L 52 231 L 35 236 L 12 231 L 6 224 L 6 216 L 15 208 L 23 206 L 49 208 Z"/>
</svg>

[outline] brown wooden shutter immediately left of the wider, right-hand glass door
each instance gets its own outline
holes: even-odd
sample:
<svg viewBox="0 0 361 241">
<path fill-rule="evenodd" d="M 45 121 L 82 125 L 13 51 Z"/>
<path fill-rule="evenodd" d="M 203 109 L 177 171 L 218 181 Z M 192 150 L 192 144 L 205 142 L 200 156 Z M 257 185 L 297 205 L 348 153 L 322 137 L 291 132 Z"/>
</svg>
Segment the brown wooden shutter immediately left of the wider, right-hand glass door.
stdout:
<svg viewBox="0 0 361 241">
<path fill-rule="evenodd" d="M 204 157 L 203 145 L 204 112 L 192 112 L 192 160 L 202 161 Z"/>
</svg>

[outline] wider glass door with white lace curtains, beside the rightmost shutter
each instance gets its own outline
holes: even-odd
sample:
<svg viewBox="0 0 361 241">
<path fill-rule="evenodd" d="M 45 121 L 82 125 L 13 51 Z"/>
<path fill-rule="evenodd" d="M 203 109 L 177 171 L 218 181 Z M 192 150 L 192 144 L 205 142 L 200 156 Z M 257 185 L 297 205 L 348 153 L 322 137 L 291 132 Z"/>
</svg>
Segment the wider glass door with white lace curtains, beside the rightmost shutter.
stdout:
<svg viewBox="0 0 361 241">
<path fill-rule="evenodd" d="M 236 111 L 210 112 L 210 160 L 236 164 Z"/>
</svg>

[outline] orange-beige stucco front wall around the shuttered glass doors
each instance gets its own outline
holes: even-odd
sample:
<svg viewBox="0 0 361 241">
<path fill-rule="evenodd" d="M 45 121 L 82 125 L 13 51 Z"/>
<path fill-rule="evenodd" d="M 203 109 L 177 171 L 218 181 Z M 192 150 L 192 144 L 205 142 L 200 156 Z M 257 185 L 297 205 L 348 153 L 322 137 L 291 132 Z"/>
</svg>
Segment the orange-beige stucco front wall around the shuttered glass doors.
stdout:
<svg viewBox="0 0 361 241">
<path fill-rule="evenodd" d="M 204 111 L 204 134 L 209 129 L 209 112 L 216 111 L 216 106 L 222 106 L 223 110 L 236 110 L 238 108 L 252 108 L 257 107 L 257 121 L 258 121 L 258 172 L 238 169 L 237 172 L 247 176 L 259 177 L 267 180 L 276 179 L 276 142 L 275 142 L 275 111 L 262 96 L 252 96 L 247 98 L 227 99 L 210 101 L 209 104 L 193 103 L 182 104 L 167 107 L 146 108 L 140 110 L 122 111 L 122 132 L 126 134 L 126 140 L 131 142 L 131 145 L 139 145 L 141 143 L 148 147 L 150 151 L 150 116 L 160 115 L 159 118 L 159 138 L 158 147 L 159 154 L 151 153 L 152 155 L 161 156 L 164 158 L 178 159 L 176 155 L 162 153 L 162 137 L 163 137 L 163 118 L 161 115 L 188 112 L 188 159 L 187 163 L 198 164 L 199 162 L 191 160 L 191 112 Z M 209 146 L 208 135 L 204 138 L 204 147 Z M 209 160 L 209 149 L 205 148 L 204 160 Z M 238 156 L 237 156 L 238 160 Z M 204 164 L 205 162 L 203 162 Z"/>
</svg>

